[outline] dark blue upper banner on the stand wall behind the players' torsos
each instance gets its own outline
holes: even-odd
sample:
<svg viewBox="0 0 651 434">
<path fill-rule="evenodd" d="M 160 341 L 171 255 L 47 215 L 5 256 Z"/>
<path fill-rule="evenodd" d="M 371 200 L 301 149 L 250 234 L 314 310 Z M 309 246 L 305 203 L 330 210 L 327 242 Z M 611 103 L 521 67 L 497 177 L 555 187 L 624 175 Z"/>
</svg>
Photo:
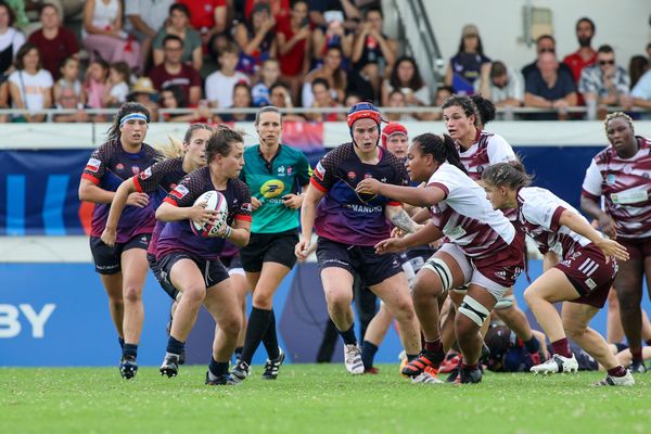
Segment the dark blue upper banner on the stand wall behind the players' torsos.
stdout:
<svg viewBox="0 0 651 434">
<path fill-rule="evenodd" d="M 323 151 L 310 149 L 310 162 Z M 515 152 L 534 184 L 579 208 L 580 186 L 597 146 L 522 146 Z M 0 235 L 78 235 L 92 205 L 79 203 L 81 171 L 91 150 L 0 152 Z"/>
</svg>

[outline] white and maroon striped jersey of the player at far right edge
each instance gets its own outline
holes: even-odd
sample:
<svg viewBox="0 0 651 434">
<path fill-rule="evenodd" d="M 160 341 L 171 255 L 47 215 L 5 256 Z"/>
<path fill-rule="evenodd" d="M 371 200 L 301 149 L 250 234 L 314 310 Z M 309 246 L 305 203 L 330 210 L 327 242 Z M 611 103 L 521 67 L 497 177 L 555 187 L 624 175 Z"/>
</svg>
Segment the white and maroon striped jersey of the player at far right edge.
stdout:
<svg viewBox="0 0 651 434">
<path fill-rule="evenodd" d="M 586 171 L 583 195 L 599 202 L 615 220 L 617 237 L 651 237 L 651 141 L 636 137 L 638 152 L 620 158 L 612 146 L 598 153 Z"/>
</svg>

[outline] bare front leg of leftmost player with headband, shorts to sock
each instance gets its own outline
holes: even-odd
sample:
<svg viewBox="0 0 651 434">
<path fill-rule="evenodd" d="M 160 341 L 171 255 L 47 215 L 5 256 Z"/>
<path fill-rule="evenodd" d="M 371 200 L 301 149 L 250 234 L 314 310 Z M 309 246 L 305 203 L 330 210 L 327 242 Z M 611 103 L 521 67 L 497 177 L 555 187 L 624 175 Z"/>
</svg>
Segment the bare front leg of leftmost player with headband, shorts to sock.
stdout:
<svg viewBox="0 0 651 434">
<path fill-rule="evenodd" d="M 125 342 L 138 344 L 144 322 L 142 289 L 149 264 L 144 248 L 129 248 L 122 254 L 123 291 L 125 299 Z"/>
</svg>

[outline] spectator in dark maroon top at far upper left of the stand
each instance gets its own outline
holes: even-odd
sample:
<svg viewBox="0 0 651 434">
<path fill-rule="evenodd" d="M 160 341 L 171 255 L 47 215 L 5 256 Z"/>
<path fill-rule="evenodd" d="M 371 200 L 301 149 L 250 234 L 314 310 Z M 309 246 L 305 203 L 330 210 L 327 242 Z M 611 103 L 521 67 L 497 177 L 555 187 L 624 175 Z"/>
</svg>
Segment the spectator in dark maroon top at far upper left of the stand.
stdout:
<svg viewBox="0 0 651 434">
<path fill-rule="evenodd" d="M 33 33 L 27 41 L 38 48 L 43 68 L 58 80 L 61 77 L 59 65 L 64 59 L 78 55 L 79 42 L 72 31 L 61 27 L 61 18 L 54 4 L 46 3 L 41 7 L 40 21 L 42 27 Z"/>
</svg>

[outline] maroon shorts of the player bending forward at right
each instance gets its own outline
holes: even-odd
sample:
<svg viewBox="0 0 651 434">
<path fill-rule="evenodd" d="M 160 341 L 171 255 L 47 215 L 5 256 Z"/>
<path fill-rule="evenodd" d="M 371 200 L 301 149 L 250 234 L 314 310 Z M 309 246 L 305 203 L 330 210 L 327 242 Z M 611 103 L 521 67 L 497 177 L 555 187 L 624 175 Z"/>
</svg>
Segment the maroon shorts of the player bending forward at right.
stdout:
<svg viewBox="0 0 651 434">
<path fill-rule="evenodd" d="M 617 276 L 617 263 L 607 258 L 595 245 L 588 244 L 556 265 L 563 271 L 578 292 L 579 297 L 572 303 L 595 306 L 599 309 L 605 304 L 608 293 Z"/>
</svg>

